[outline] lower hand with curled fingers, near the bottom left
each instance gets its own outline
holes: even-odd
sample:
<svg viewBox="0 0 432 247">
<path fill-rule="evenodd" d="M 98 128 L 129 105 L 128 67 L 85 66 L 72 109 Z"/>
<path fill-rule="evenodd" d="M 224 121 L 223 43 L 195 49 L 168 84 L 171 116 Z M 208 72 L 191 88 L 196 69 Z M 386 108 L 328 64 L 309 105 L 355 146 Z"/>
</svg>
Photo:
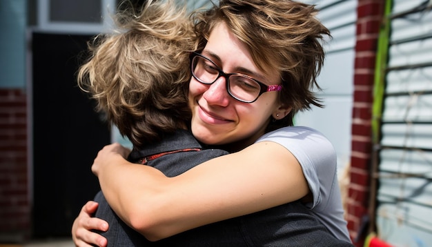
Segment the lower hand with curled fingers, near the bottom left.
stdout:
<svg viewBox="0 0 432 247">
<path fill-rule="evenodd" d="M 77 219 L 72 225 L 72 240 L 75 246 L 107 246 L 108 242 L 105 237 L 98 233 L 93 233 L 92 230 L 108 230 L 108 222 L 103 219 L 92 217 L 92 213 L 97 210 L 97 202 L 88 201 L 86 205 L 81 208 Z"/>
</svg>

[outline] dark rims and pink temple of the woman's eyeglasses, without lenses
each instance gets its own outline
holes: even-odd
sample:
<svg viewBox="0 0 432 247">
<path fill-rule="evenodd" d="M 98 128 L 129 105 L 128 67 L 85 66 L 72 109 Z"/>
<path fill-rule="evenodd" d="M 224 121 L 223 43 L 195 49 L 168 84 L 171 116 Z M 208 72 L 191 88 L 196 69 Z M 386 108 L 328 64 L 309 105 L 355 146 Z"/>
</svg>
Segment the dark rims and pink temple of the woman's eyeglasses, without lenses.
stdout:
<svg viewBox="0 0 432 247">
<path fill-rule="evenodd" d="M 216 79 L 214 81 L 212 81 L 212 82 L 202 81 L 201 79 L 199 79 L 195 75 L 195 72 L 193 71 L 194 70 L 193 60 L 195 59 L 195 57 L 202 57 L 202 58 L 210 61 L 210 63 L 213 63 L 215 65 L 215 69 L 217 70 L 217 72 L 219 72 L 219 75 L 217 75 L 217 77 L 216 77 Z M 244 103 L 253 103 L 253 102 L 255 102 L 264 92 L 272 92 L 272 91 L 280 91 L 280 90 L 282 90 L 282 85 L 281 84 L 267 86 L 266 84 L 262 83 L 261 81 L 257 81 L 256 79 L 253 79 L 252 77 L 249 77 L 248 75 L 244 75 L 242 73 L 226 73 L 221 68 L 219 68 L 219 66 L 217 66 L 217 64 L 214 61 L 212 61 L 208 57 L 206 57 L 206 56 L 204 56 L 204 55 L 202 55 L 202 54 L 200 54 L 198 52 L 191 52 L 191 55 L 190 55 L 190 72 L 192 72 L 193 78 L 195 78 L 200 83 L 207 84 L 207 85 L 213 84 L 220 77 L 224 77 L 225 81 L 226 81 L 226 91 L 228 92 L 228 95 L 230 95 L 234 99 L 237 99 L 238 101 L 241 101 L 241 102 L 244 102 Z M 240 76 L 240 77 L 245 77 L 247 79 L 251 79 L 252 81 L 255 81 L 256 83 L 258 83 L 258 85 L 260 87 L 260 90 L 259 90 L 259 94 L 257 95 L 257 97 L 254 100 L 252 100 L 252 101 L 246 101 L 244 99 L 239 99 L 239 98 L 235 97 L 235 95 L 233 95 L 233 93 L 230 92 L 230 87 L 229 87 L 229 78 L 232 75 L 237 75 L 237 76 Z"/>
</svg>

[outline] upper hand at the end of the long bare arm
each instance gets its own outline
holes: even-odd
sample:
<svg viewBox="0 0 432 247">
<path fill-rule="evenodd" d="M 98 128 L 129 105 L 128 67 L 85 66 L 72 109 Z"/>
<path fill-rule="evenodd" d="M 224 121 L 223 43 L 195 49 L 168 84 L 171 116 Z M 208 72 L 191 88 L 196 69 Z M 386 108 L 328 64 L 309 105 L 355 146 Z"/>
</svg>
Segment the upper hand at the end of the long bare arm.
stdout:
<svg viewBox="0 0 432 247">
<path fill-rule="evenodd" d="M 99 172 L 104 166 L 110 164 L 110 162 L 115 162 L 114 157 L 121 156 L 124 160 L 128 157 L 130 153 L 129 148 L 125 148 L 118 143 L 110 144 L 104 146 L 98 153 L 95 161 L 93 161 L 92 172 L 99 176 Z"/>
</svg>

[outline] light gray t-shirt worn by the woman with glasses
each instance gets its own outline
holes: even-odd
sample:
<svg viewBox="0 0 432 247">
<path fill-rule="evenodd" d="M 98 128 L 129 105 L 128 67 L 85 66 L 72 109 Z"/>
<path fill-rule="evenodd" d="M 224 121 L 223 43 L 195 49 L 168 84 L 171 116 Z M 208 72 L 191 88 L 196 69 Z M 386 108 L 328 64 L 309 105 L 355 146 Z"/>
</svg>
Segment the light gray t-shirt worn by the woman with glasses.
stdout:
<svg viewBox="0 0 432 247">
<path fill-rule="evenodd" d="M 350 241 L 336 174 L 336 152 L 322 133 L 312 128 L 291 126 L 268 132 L 259 141 L 273 141 L 289 150 L 302 166 L 313 194 L 306 205 L 338 239 Z"/>
</svg>

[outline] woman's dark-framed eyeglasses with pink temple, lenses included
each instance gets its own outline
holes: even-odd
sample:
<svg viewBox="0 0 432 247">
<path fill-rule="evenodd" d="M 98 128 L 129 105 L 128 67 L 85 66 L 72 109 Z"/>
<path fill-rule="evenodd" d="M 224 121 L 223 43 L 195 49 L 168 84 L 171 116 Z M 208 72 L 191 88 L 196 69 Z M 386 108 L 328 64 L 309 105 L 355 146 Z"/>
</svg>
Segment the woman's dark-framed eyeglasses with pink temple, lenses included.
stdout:
<svg viewBox="0 0 432 247">
<path fill-rule="evenodd" d="M 192 70 L 192 75 L 197 81 L 211 84 L 219 79 L 219 77 L 224 77 L 228 94 L 238 101 L 252 103 L 264 92 L 282 90 L 282 85 L 280 84 L 267 86 L 247 75 L 226 73 L 216 63 L 197 52 L 193 52 L 192 56 L 190 70 Z"/>
</svg>

